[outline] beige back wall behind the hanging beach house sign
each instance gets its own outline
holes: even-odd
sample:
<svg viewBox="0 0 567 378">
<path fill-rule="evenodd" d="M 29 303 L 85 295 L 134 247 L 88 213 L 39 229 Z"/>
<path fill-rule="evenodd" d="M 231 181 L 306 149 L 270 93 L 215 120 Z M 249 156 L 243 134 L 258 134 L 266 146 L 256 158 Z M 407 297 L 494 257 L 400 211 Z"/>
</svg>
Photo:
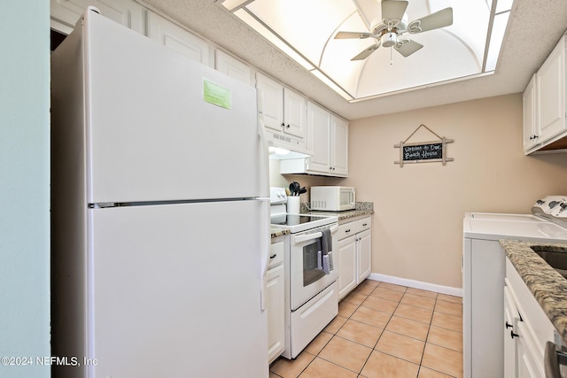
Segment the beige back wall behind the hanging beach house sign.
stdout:
<svg viewBox="0 0 567 378">
<path fill-rule="evenodd" d="M 454 139 L 453 162 L 394 164 L 420 124 Z M 408 142 L 435 138 L 421 128 Z M 526 157 L 522 140 L 521 94 L 351 121 L 343 184 L 374 202 L 372 272 L 461 288 L 464 212 L 525 213 L 567 194 L 567 153 Z"/>
</svg>

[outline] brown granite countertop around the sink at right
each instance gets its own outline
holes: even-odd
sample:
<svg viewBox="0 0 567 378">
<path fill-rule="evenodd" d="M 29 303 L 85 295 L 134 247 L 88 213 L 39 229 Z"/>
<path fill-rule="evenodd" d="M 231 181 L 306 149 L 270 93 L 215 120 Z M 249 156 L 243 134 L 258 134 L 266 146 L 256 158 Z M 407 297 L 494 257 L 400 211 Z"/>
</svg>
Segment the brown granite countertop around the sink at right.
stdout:
<svg viewBox="0 0 567 378">
<path fill-rule="evenodd" d="M 501 240 L 500 243 L 563 342 L 567 343 L 567 280 L 532 250 L 534 246 L 543 246 L 546 251 L 567 253 L 567 244 L 514 240 Z"/>
</svg>

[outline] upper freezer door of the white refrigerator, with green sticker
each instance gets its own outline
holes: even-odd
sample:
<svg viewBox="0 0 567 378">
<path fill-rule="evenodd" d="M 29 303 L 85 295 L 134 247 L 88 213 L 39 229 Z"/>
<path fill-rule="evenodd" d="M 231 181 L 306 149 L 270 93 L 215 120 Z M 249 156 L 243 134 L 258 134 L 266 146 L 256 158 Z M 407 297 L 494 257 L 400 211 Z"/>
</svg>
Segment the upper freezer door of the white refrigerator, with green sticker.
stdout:
<svg viewBox="0 0 567 378">
<path fill-rule="evenodd" d="M 89 203 L 267 196 L 255 89 L 95 12 L 85 41 Z"/>
</svg>

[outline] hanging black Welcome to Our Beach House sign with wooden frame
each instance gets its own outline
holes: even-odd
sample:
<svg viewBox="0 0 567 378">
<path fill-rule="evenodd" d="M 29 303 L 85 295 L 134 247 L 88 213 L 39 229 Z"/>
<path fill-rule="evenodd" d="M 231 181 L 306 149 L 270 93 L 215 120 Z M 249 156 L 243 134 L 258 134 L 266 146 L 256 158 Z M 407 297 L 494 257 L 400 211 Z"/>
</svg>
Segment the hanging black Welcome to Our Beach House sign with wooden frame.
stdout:
<svg viewBox="0 0 567 378">
<path fill-rule="evenodd" d="M 408 143 L 409 138 L 411 138 L 420 127 L 427 128 L 431 134 L 439 138 L 438 141 L 432 142 L 419 142 L 419 143 Z M 446 137 L 441 137 L 435 134 L 431 129 L 425 125 L 419 125 L 416 131 L 411 133 L 411 135 L 406 138 L 404 142 L 400 144 L 394 144 L 394 148 L 400 149 L 400 160 L 394 161 L 394 164 L 399 164 L 400 167 L 404 166 L 404 163 L 431 163 L 431 162 L 441 162 L 445 166 L 447 161 L 453 161 L 453 158 L 447 158 L 447 143 L 453 143 L 452 139 L 447 139 Z"/>
</svg>

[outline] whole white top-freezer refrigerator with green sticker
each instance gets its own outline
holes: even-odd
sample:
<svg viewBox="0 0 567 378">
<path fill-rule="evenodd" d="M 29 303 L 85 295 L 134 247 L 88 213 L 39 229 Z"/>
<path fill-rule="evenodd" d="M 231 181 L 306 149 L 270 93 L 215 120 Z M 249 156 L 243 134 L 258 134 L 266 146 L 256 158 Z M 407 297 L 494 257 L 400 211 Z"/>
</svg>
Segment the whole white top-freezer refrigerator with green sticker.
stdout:
<svg viewBox="0 0 567 378">
<path fill-rule="evenodd" d="M 51 56 L 57 377 L 268 377 L 256 92 L 89 9 Z"/>
</svg>

